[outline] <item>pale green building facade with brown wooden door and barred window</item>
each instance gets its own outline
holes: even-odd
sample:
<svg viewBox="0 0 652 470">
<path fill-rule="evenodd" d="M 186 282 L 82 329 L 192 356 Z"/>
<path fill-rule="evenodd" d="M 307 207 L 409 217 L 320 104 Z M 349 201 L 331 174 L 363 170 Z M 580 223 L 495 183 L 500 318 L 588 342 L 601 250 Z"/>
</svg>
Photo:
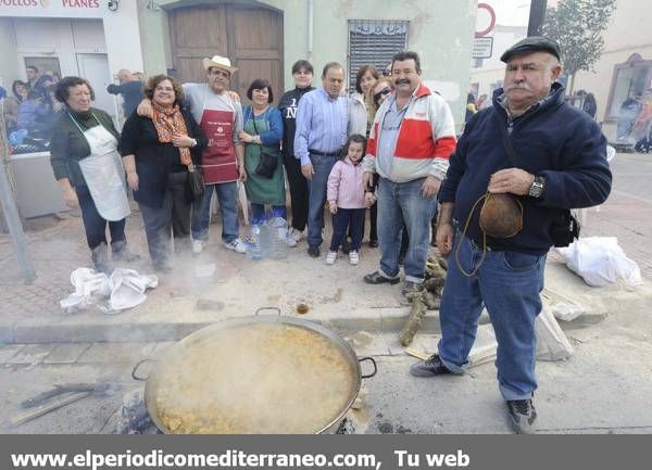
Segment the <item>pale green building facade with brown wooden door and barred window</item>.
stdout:
<svg viewBox="0 0 652 470">
<path fill-rule="evenodd" d="M 408 48 L 421 54 L 424 79 L 451 103 L 457 123 L 476 7 L 476 0 L 138 0 L 147 73 L 203 80 L 201 58 L 228 55 L 239 68 L 231 88 L 240 96 L 261 76 L 280 96 L 299 59 L 314 65 L 315 85 L 324 64 L 342 63 L 350 85 L 360 64 L 384 68 Z"/>
</svg>

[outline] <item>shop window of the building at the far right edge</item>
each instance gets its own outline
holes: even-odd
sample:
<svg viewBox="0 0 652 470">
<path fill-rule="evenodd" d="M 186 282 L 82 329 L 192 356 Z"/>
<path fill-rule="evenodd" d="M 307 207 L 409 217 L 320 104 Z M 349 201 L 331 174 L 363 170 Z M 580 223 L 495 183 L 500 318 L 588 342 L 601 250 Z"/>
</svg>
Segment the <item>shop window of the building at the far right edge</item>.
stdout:
<svg viewBox="0 0 652 470">
<path fill-rule="evenodd" d="M 644 61 L 639 54 L 624 64 L 614 66 L 605 120 L 616 120 L 623 102 L 642 96 L 652 87 L 652 61 Z"/>
</svg>

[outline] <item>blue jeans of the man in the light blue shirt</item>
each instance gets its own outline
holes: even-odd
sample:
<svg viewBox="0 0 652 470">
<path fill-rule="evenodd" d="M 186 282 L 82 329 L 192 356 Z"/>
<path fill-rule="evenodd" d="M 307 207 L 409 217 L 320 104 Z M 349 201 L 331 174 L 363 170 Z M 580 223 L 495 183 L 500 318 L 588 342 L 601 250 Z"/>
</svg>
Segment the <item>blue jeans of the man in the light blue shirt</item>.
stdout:
<svg viewBox="0 0 652 470">
<path fill-rule="evenodd" d="M 324 203 L 326 202 L 326 183 L 333 165 L 337 162 L 335 156 L 310 155 L 314 175 L 308 182 L 310 190 L 308 208 L 308 244 L 319 246 L 322 229 L 324 228 Z"/>
</svg>

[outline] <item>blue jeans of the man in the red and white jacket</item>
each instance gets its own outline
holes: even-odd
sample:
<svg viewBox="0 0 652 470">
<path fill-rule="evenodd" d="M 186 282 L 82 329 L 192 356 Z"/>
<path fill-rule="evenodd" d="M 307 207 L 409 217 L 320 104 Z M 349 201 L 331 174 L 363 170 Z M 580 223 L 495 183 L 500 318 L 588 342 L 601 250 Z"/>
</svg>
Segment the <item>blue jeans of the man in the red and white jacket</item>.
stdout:
<svg viewBox="0 0 652 470">
<path fill-rule="evenodd" d="M 430 220 L 437 209 L 436 196 L 424 198 L 425 178 L 408 182 L 378 181 L 378 245 L 380 246 L 380 275 L 399 276 L 399 252 L 403 223 L 408 228 L 410 244 L 405 254 L 405 280 L 421 283 L 425 278 L 426 261 L 430 251 Z"/>
</svg>

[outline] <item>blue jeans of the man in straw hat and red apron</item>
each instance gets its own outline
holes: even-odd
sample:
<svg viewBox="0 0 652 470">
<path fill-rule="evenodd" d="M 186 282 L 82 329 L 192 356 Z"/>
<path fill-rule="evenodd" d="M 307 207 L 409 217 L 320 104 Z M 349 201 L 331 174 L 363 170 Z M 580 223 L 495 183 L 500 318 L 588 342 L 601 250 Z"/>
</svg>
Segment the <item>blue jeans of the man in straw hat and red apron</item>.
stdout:
<svg viewBox="0 0 652 470">
<path fill-rule="evenodd" d="M 217 193 L 222 215 L 222 241 L 230 243 L 240 234 L 238 226 L 238 183 L 236 181 L 204 185 L 201 201 L 192 203 L 192 238 L 206 241 L 211 223 L 211 198 Z"/>
</svg>

